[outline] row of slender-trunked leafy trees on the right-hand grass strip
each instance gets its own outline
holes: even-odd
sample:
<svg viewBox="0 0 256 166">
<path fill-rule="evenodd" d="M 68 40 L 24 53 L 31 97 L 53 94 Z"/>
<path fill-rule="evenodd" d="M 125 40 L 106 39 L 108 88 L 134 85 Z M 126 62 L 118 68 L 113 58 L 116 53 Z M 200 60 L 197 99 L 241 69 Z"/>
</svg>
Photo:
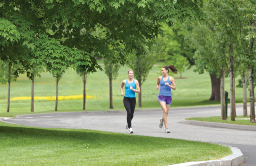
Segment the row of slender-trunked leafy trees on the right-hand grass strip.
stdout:
<svg viewBox="0 0 256 166">
<path fill-rule="evenodd" d="M 218 1 L 204 4 L 207 18 L 187 22 L 193 28 L 188 38 L 196 48 L 197 70 L 210 73 L 217 91 L 212 97 L 220 98 L 221 119 L 226 120 L 224 78 L 229 76 L 231 120 L 235 120 L 235 77 L 243 78 L 244 117 L 247 116 L 246 81 L 249 73 L 250 121 L 255 123 L 254 77 L 256 48 L 254 46 L 256 20 L 255 0 Z"/>
</svg>

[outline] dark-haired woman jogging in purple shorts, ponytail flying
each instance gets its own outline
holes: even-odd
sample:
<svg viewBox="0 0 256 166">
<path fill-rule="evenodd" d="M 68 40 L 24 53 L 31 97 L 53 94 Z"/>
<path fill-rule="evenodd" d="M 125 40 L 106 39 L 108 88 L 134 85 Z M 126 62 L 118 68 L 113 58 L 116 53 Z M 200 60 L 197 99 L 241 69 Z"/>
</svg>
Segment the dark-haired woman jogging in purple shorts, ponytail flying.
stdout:
<svg viewBox="0 0 256 166">
<path fill-rule="evenodd" d="M 172 72 L 177 73 L 176 67 L 173 65 L 168 66 Z M 167 115 L 169 112 L 169 108 L 172 102 L 172 93 L 171 89 L 176 90 L 176 85 L 174 82 L 174 78 L 168 75 L 169 68 L 167 66 L 162 67 L 161 72 L 162 76 L 158 77 L 156 83 L 156 89 L 159 89 L 160 84 L 160 92 L 158 94 L 158 102 L 163 109 L 163 117 L 160 119 L 159 127 L 162 128 L 163 124 L 165 126 L 165 133 L 169 133 L 170 130 L 167 126 Z"/>
</svg>

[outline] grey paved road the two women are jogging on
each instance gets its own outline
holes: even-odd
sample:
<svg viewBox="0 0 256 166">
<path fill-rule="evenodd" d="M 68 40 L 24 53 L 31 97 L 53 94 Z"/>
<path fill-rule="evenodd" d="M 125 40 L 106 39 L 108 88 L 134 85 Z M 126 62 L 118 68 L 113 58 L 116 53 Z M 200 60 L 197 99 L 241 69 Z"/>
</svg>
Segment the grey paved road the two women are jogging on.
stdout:
<svg viewBox="0 0 256 166">
<path fill-rule="evenodd" d="M 160 106 L 159 106 L 160 107 Z M 228 108 L 228 111 L 230 109 Z M 250 109 L 248 107 L 250 115 Z M 220 116 L 220 106 L 171 108 L 168 127 L 171 133 L 160 129 L 161 109 L 135 110 L 132 119 L 133 134 L 203 141 L 237 147 L 244 154 L 243 166 L 256 166 L 256 131 L 191 125 L 180 123 L 188 117 Z M 230 112 L 228 112 L 228 116 Z M 242 105 L 236 106 L 236 115 L 243 115 Z M 128 133 L 125 129 L 126 111 L 65 112 L 51 114 L 20 115 L 6 122 L 45 128 L 92 129 Z M 242 166 L 242 164 L 241 164 Z"/>
</svg>

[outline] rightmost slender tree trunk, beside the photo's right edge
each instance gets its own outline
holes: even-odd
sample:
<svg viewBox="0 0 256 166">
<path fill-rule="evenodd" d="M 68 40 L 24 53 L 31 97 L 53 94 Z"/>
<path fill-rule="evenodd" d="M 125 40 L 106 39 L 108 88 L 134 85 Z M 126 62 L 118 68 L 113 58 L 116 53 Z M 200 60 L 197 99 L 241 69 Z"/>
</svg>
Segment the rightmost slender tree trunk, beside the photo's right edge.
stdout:
<svg viewBox="0 0 256 166">
<path fill-rule="evenodd" d="M 254 21 L 251 19 L 251 31 L 253 33 Z M 249 58 L 251 58 L 252 47 L 253 47 L 254 38 L 250 39 L 250 53 Z M 253 67 L 249 65 L 249 89 L 250 89 L 250 122 L 255 123 L 255 106 L 254 106 L 254 78 L 253 78 Z"/>
</svg>

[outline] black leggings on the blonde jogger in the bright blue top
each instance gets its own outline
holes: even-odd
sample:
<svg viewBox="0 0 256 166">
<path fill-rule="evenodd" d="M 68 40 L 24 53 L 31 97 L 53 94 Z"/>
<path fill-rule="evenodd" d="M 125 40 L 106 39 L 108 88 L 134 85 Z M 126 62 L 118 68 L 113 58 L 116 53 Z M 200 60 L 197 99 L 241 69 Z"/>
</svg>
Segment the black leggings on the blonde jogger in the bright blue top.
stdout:
<svg viewBox="0 0 256 166">
<path fill-rule="evenodd" d="M 127 124 L 128 127 L 132 127 L 132 118 L 133 113 L 136 105 L 136 98 L 135 97 L 124 97 L 124 107 L 127 111 Z"/>
</svg>

